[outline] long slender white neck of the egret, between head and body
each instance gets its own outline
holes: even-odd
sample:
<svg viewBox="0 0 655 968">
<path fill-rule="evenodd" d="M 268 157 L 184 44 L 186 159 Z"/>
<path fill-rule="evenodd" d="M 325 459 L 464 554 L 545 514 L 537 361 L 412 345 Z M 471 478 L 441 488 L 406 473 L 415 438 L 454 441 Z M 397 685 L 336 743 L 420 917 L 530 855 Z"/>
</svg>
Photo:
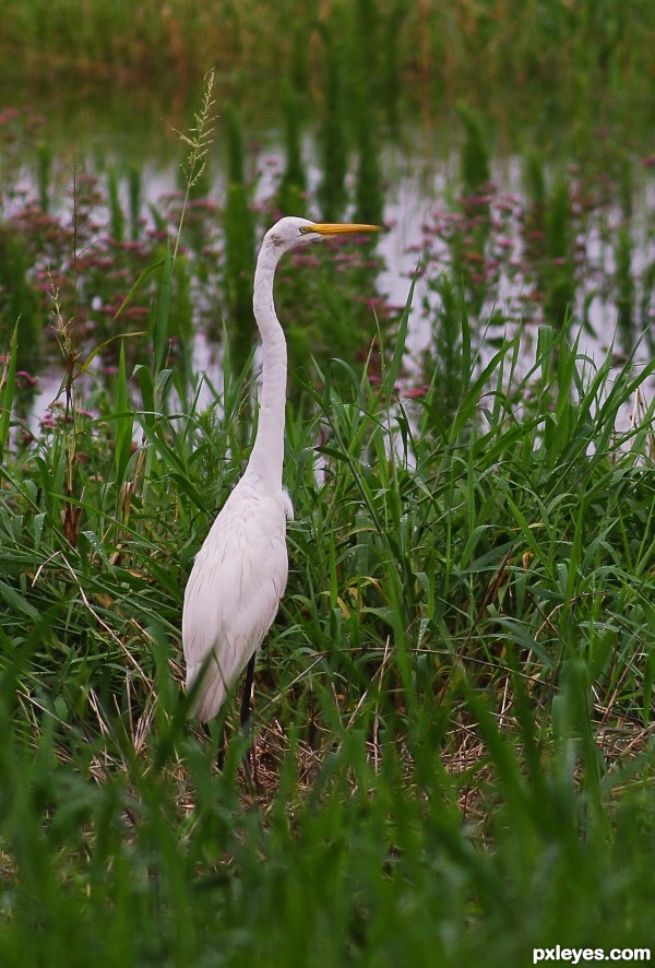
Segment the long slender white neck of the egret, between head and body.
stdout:
<svg viewBox="0 0 655 968">
<path fill-rule="evenodd" d="M 273 491 L 282 487 L 287 381 L 286 340 L 273 303 L 277 261 L 277 252 L 262 250 L 254 272 L 252 304 L 262 339 L 262 386 L 257 437 L 246 470 L 249 477 Z"/>
</svg>

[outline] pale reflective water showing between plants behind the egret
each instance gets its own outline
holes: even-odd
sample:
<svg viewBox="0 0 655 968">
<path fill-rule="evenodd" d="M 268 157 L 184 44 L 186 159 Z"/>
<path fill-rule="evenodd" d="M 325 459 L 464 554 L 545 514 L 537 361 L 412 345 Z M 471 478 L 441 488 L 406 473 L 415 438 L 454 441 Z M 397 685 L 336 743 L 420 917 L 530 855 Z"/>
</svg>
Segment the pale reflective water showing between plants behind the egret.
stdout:
<svg viewBox="0 0 655 968">
<path fill-rule="evenodd" d="M 111 248 L 111 259 L 118 262 L 117 271 L 121 271 L 124 275 L 122 290 L 124 294 L 138 272 L 150 264 L 148 260 L 156 255 L 162 257 L 163 250 L 157 252 L 153 241 L 156 241 L 157 233 L 162 245 L 166 235 L 171 233 L 176 201 L 179 200 L 182 154 L 179 135 L 174 128 L 183 125 L 179 117 L 183 113 L 182 107 L 179 106 L 179 110 L 174 114 L 175 123 L 156 118 L 148 108 L 147 123 L 127 128 L 120 137 L 115 133 L 103 134 L 95 130 L 93 111 L 79 110 L 74 121 L 70 121 L 74 137 L 72 139 L 64 137 L 61 141 L 52 137 L 52 132 L 55 129 L 61 132 L 68 122 L 62 120 L 57 125 L 51 111 L 44 116 L 44 120 L 39 120 L 37 109 L 38 106 L 33 109 L 34 114 L 31 117 L 36 118 L 38 122 L 33 121 L 27 126 L 32 127 L 32 133 L 25 135 L 23 143 L 17 144 L 14 141 L 9 154 L 4 155 L 5 169 L 11 167 L 13 172 L 10 179 L 11 189 L 5 191 L 3 199 L 4 219 L 7 222 L 12 222 L 21 209 L 25 209 L 34 199 L 40 199 L 43 209 L 44 199 L 47 199 L 50 217 L 59 220 L 62 226 L 72 231 L 73 202 L 70 189 L 73 177 L 78 181 L 78 188 L 82 172 L 85 173 L 84 177 L 96 179 L 102 186 L 103 199 L 94 208 L 93 221 L 85 226 L 86 235 L 79 237 L 75 244 L 79 246 L 82 244 L 87 257 L 91 251 L 93 259 L 99 260 L 95 265 L 99 273 L 97 283 L 99 286 L 116 265 L 108 262 L 103 264 L 100 257 L 106 255 L 106 246 L 99 245 L 98 239 L 110 238 L 111 234 L 117 235 L 112 217 L 118 211 L 130 213 L 132 209 L 130 231 L 124 229 L 126 237 L 122 240 L 115 238 Z M 37 130 L 39 134 L 34 137 L 34 131 Z M 50 161 L 46 170 L 39 144 L 44 143 L 44 139 L 49 141 L 51 137 Z M 252 139 L 249 138 L 248 141 L 251 144 Z M 71 143 L 75 143 L 74 176 Z M 311 200 L 317 197 L 322 178 L 320 144 L 313 135 L 306 134 L 302 139 L 302 158 L 306 167 L 307 198 L 311 210 L 313 204 Z M 407 341 L 408 354 L 404 380 L 406 387 L 410 389 L 414 385 L 418 386 L 430 379 L 430 373 L 426 371 L 426 367 L 429 366 L 430 355 L 434 353 L 434 305 L 436 298 L 439 297 L 439 291 L 430 288 L 430 280 L 434 280 L 440 272 L 452 272 L 455 264 L 452 257 L 454 243 L 452 238 L 449 240 L 443 224 L 444 220 L 448 221 L 450 217 L 451 225 L 458 231 L 455 216 L 460 217 L 464 211 L 464 203 L 458 198 L 460 152 L 442 150 L 440 155 L 434 154 L 433 142 L 428 139 L 426 146 L 425 132 L 419 132 L 414 141 L 405 137 L 402 144 L 390 142 L 381 153 L 380 164 L 385 182 L 384 220 L 390 231 L 379 240 L 378 252 L 382 260 L 382 269 L 378 278 L 378 288 L 384 295 L 388 305 L 402 307 L 405 304 L 410 278 L 417 265 L 422 267 L 414 296 Z M 638 158 L 632 160 L 631 165 L 633 170 L 629 187 L 630 211 L 627 212 L 626 192 L 621 198 L 620 187 L 617 188 L 608 178 L 605 186 L 607 197 L 603 203 L 595 212 L 590 210 L 579 213 L 580 217 L 572 228 L 583 236 L 576 239 L 575 245 L 584 246 L 584 264 L 581 263 L 582 268 L 574 267 L 577 275 L 573 298 L 577 321 L 574 320 L 572 337 L 582 327 L 580 346 L 582 352 L 591 357 L 599 357 L 607 347 L 615 347 L 618 355 L 624 356 L 631 352 L 635 343 L 639 343 L 638 361 L 645 361 L 653 352 L 652 327 L 648 324 L 653 314 L 654 263 L 650 221 L 655 208 L 655 187 L 647 177 L 647 168 L 640 167 Z M 247 180 L 255 212 L 270 210 L 271 199 L 283 177 L 284 166 L 285 149 L 281 135 L 274 130 L 267 130 L 257 150 L 251 145 L 248 152 Z M 552 186 L 562 170 L 562 165 L 544 165 L 544 169 L 546 181 Z M 135 172 L 138 175 L 134 175 Z M 485 209 L 487 217 L 500 220 L 502 201 L 513 199 L 516 212 L 525 220 L 531 203 L 534 204 L 534 199 L 531 202 L 526 194 L 525 172 L 526 162 L 523 156 L 509 154 L 507 157 L 491 160 L 492 193 L 489 200 L 484 202 L 487 206 Z M 569 173 L 567 177 L 571 184 L 577 178 L 579 190 L 584 192 L 594 184 L 593 179 L 597 177 L 597 173 L 584 176 Z M 585 180 L 587 177 L 588 182 Z M 138 178 L 136 189 L 135 178 Z M 352 170 L 349 179 L 353 178 Z M 44 190 L 45 180 L 47 180 L 46 190 Z M 227 191 L 218 141 L 211 158 L 207 182 L 210 190 L 206 202 L 213 209 L 210 212 L 211 219 L 204 223 L 196 213 L 200 226 L 198 238 L 192 245 L 188 243 L 189 279 L 192 288 L 182 296 L 190 300 L 189 324 L 192 324 L 194 333 L 188 357 L 191 369 L 194 374 L 206 373 L 211 383 L 217 386 L 222 369 L 222 331 L 225 321 L 224 293 L 221 288 L 221 262 L 224 255 L 221 221 Z M 114 202 L 107 200 L 107 191 L 111 189 L 111 185 L 115 192 Z M 597 188 L 597 185 L 595 187 Z M 571 198 L 573 205 L 580 203 L 573 198 L 572 192 Z M 79 199 L 75 204 L 78 205 L 75 217 L 78 217 Z M 133 211 L 135 205 L 138 205 L 136 212 Z M 473 211 L 471 224 L 479 224 L 479 217 L 480 212 Z M 262 215 L 260 221 L 263 219 Z M 440 231 L 434 229 L 438 223 L 441 223 Z M 207 228 L 207 225 L 211 225 L 211 228 Z M 193 223 L 189 229 L 193 229 Z M 475 239 L 468 237 L 472 231 L 471 226 L 464 226 L 461 235 L 465 245 L 473 246 L 472 252 L 475 255 Z M 508 271 L 500 271 L 497 274 L 495 287 L 490 288 L 485 283 L 486 288 L 477 307 L 479 319 L 476 323 L 479 332 L 480 357 L 483 361 L 489 358 L 498 340 L 504 335 L 511 337 L 520 327 L 525 334 L 527 365 L 533 358 L 534 341 L 531 333 L 538 324 L 540 312 L 538 304 L 531 306 L 526 297 L 531 296 L 531 286 L 534 292 L 536 285 L 533 285 L 534 279 L 526 280 L 526 276 L 515 268 L 514 271 L 509 271 L 512 258 L 517 264 L 525 257 L 526 235 L 524 234 L 523 238 L 517 237 L 522 231 L 519 216 L 513 222 L 508 221 L 504 226 L 497 225 L 493 231 L 498 245 L 502 246 L 503 240 L 507 241 Z M 76 232 L 80 232 L 79 225 Z M 134 238 L 138 232 L 148 240 L 148 245 L 143 248 L 141 264 L 132 260 L 120 263 L 117 255 L 120 248 L 118 243 L 123 249 L 130 245 L 138 247 L 139 241 Z M 483 247 L 488 246 L 488 238 L 487 235 L 480 244 Z M 193 248 L 195 251 L 191 251 Z M 623 267 L 622 291 L 621 281 L 617 278 L 621 253 L 627 261 L 627 265 Z M 480 252 L 479 258 L 483 256 L 486 258 L 488 252 Z M 552 256 L 552 252 L 550 255 L 552 257 L 550 261 L 555 263 L 558 257 Z M 561 258 L 563 261 L 564 257 Z M 195 264 L 191 264 L 193 259 L 196 260 Z M 648 290 L 648 279 L 651 279 L 651 290 Z M 633 280 L 634 286 L 632 294 L 629 292 L 630 280 Z M 80 284 L 78 280 L 78 287 Z M 117 306 L 106 305 L 102 295 L 90 290 L 90 286 L 93 288 L 93 280 L 90 282 L 86 279 L 84 286 L 90 317 L 95 327 L 94 335 L 96 339 L 109 339 L 116 326 L 111 321 L 111 312 Z M 144 298 L 141 304 L 134 300 L 130 311 L 142 310 L 145 321 L 151 298 L 152 296 Z M 626 309 L 626 300 L 630 298 L 632 316 Z M 105 309 L 106 327 L 102 330 L 98 329 L 98 316 Z M 284 311 L 281 311 L 281 316 L 284 321 Z M 123 317 L 121 327 L 127 321 Z M 622 322 L 621 329 L 617 328 L 618 321 Z M 182 339 L 188 335 L 189 333 L 182 334 Z M 57 398 L 62 367 L 52 354 L 43 363 L 35 356 L 33 364 L 28 368 L 38 374 L 38 392 L 34 399 L 29 422 L 35 427 Z M 102 379 L 103 368 L 99 365 L 94 368 L 93 375 L 90 371 L 81 378 L 82 397 L 87 396 L 94 387 L 97 389 L 96 385 Z M 201 389 L 201 405 L 211 402 L 212 399 L 213 393 L 209 386 Z"/>
</svg>

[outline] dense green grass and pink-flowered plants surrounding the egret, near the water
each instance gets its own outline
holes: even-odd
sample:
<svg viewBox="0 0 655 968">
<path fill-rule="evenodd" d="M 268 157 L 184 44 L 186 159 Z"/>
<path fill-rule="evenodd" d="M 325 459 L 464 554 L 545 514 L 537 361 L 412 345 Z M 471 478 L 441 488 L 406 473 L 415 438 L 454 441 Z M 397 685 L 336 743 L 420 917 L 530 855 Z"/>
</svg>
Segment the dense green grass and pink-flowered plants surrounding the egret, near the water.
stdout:
<svg viewBox="0 0 655 968">
<path fill-rule="evenodd" d="M 190 187 L 202 117 L 194 131 Z M 522 278 L 555 284 L 568 194 L 544 180 L 557 205 L 539 210 L 537 168 L 516 224 L 550 234 Z M 424 261 L 443 366 L 422 388 L 405 389 L 407 312 L 392 339 L 358 300 L 370 252 L 345 273 L 334 252 L 287 262 L 281 315 L 313 307 L 311 345 L 290 387 L 296 517 L 253 791 L 236 699 L 209 732 L 187 719 L 179 635 L 192 556 L 250 450 L 252 356 L 226 352 L 200 404 L 190 292 L 216 280 L 189 265 L 215 213 L 189 190 L 170 200 L 176 243 L 154 209 L 128 244 L 132 188 L 121 217 L 109 180 L 117 237 L 98 238 L 82 176 L 71 226 L 16 216 L 20 280 L 44 282 L 41 243 L 53 263 L 62 394 L 27 433 L 16 328 L 0 371 L 0 963 L 484 968 L 556 944 L 652 949 L 655 364 L 585 357 L 555 296 L 538 324 L 486 338 L 498 279 L 474 270 L 496 268 L 515 217 L 492 224 L 493 194 L 438 226 L 449 275 Z M 617 287 L 634 307 L 650 290 L 629 292 L 629 243 Z M 321 338 L 333 352 L 311 363 Z"/>
</svg>

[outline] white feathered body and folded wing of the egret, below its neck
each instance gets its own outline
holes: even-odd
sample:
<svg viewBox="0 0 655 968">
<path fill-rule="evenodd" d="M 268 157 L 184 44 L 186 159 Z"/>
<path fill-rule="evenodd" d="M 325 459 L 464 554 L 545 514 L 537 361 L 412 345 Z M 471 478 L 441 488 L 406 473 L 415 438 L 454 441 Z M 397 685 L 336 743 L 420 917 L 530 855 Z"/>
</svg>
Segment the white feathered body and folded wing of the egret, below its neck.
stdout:
<svg viewBox="0 0 655 968">
<path fill-rule="evenodd" d="M 285 503 L 237 485 L 214 521 L 184 592 L 187 688 L 202 675 L 192 715 L 218 712 L 271 627 L 287 581 Z"/>
</svg>

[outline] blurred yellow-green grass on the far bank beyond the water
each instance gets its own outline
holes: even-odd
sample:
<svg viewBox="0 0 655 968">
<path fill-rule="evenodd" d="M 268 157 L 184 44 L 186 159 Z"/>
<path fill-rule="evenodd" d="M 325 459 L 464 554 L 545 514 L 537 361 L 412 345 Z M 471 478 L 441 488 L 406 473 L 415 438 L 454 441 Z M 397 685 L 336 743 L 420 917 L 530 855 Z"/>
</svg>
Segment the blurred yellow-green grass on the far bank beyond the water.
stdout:
<svg viewBox="0 0 655 968">
<path fill-rule="evenodd" d="M 286 0 L 270 9 L 257 0 L 202 7 L 146 0 L 138 9 L 115 0 L 110 14 L 100 2 L 61 0 L 53 8 L 45 0 L 4 0 L 3 13 L 2 60 L 14 76 L 33 79 L 56 72 L 150 86 L 156 78 L 168 86 L 175 78 L 179 87 L 212 66 L 238 83 L 245 75 L 276 76 L 287 63 L 315 81 L 317 32 L 340 27 L 348 59 L 365 66 L 388 104 L 407 80 L 437 96 L 471 86 L 485 92 L 555 83 L 574 109 L 588 106 L 602 82 L 609 99 L 628 95 L 645 104 L 644 81 L 653 80 L 647 0 L 588 0 L 575 8 L 531 0 L 512 16 L 495 0 Z"/>
</svg>

